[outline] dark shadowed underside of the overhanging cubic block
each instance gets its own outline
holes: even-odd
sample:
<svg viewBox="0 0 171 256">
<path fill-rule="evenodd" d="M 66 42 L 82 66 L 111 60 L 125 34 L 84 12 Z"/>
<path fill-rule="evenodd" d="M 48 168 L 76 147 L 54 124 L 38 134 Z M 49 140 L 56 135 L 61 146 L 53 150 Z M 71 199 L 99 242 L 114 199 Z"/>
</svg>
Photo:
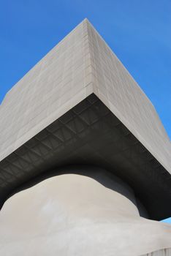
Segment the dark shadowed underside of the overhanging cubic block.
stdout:
<svg viewBox="0 0 171 256">
<path fill-rule="evenodd" d="M 170 217 L 170 173 L 94 94 L 1 161 L 1 204 L 31 179 L 77 164 L 122 178 L 151 219 Z"/>
</svg>

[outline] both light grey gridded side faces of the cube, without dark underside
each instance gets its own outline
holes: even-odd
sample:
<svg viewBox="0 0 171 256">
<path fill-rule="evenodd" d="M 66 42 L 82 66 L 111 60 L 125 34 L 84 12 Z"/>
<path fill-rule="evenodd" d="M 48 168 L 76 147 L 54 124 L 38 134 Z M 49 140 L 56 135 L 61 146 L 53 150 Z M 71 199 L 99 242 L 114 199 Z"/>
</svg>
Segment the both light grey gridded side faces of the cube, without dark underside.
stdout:
<svg viewBox="0 0 171 256">
<path fill-rule="evenodd" d="M 92 93 L 171 173 L 170 139 L 156 110 L 87 19 L 7 93 L 0 159 Z"/>
</svg>

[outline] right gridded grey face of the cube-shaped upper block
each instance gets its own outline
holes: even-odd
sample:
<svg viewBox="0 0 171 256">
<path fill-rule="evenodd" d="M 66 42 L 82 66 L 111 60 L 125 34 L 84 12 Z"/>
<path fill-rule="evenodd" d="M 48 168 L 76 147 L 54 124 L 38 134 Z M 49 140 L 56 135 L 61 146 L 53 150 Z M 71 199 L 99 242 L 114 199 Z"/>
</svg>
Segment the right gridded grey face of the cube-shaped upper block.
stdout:
<svg viewBox="0 0 171 256">
<path fill-rule="evenodd" d="M 96 96 L 171 172 L 170 139 L 151 101 L 90 23 L 87 29 Z"/>
</svg>

